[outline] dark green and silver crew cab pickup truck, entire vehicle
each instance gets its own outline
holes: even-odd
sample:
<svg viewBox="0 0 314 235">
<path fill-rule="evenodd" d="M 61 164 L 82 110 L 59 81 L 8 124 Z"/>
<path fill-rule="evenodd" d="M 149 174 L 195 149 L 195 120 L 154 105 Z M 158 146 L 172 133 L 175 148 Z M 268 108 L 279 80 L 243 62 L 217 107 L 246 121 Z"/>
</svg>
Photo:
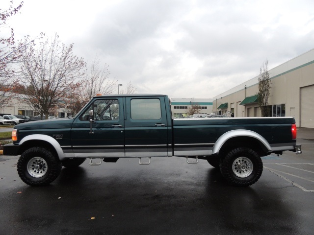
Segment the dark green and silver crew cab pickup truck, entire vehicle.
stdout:
<svg viewBox="0 0 314 235">
<path fill-rule="evenodd" d="M 21 155 L 17 170 L 31 186 L 50 184 L 62 166 L 77 167 L 86 158 L 90 165 L 119 158 L 150 164 L 171 156 L 207 160 L 228 183 L 250 186 L 262 174 L 262 156 L 301 153 L 294 118 L 172 119 L 162 94 L 95 96 L 74 118 L 15 126 L 12 140 L 3 155 Z"/>
</svg>

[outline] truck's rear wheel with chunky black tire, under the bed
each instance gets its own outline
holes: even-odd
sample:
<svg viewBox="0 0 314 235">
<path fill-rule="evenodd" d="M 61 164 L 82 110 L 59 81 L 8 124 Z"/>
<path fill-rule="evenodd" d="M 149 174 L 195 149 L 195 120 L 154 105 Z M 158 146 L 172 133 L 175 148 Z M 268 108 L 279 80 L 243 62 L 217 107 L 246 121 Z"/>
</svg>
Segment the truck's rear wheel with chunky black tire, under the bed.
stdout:
<svg viewBox="0 0 314 235">
<path fill-rule="evenodd" d="M 246 187 L 260 179 L 263 164 L 260 156 L 253 149 L 239 147 L 223 157 L 220 171 L 231 185 Z"/>
</svg>

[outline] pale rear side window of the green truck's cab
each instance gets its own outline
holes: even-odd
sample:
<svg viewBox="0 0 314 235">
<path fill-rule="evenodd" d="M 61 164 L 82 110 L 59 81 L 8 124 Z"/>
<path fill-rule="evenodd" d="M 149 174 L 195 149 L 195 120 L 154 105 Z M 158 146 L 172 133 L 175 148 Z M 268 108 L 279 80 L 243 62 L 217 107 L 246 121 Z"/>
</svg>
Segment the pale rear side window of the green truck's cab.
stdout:
<svg viewBox="0 0 314 235">
<path fill-rule="evenodd" d="M 159 99 L 132 99 L 131 118 L 133 120 L 154 120 L 161 118 Z"/>
</svg>

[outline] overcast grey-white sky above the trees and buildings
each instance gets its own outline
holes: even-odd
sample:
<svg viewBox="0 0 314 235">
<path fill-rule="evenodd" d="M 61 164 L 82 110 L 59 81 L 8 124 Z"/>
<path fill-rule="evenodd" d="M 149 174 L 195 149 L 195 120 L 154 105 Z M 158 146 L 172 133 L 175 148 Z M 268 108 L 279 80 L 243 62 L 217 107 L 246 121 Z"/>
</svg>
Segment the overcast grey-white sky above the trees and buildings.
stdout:
<svg viewBox="0 0 314 235">
<path fill-rule="evenodd" d="M 314 48 L 313 0 L 24 0 L 7 24 L 171 98 L 212 98 Z"/>
</svg>

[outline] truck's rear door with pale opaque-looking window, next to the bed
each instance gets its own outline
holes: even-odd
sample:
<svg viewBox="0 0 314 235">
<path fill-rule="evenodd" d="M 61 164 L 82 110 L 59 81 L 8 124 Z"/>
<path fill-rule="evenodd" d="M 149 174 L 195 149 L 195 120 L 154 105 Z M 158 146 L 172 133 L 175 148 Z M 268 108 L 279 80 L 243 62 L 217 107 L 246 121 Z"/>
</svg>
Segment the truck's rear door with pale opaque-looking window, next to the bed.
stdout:
<svg viewBox="0 0 314 235">
<path fill-rule="evenodd" d="M 126 157 L 168 156 L 168 125 L 163 96 L 126 97 Z"/>
</svg>

